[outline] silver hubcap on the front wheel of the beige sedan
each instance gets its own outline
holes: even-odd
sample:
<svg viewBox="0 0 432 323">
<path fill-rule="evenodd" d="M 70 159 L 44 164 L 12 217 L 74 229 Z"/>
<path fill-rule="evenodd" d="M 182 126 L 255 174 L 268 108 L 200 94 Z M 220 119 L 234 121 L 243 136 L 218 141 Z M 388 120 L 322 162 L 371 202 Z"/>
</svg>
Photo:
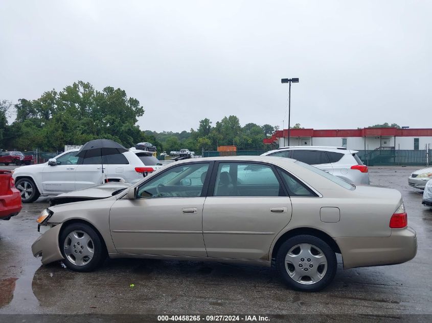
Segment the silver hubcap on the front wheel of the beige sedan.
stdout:
<svg viewBox="0 0 432 323">
<path fill-rule="evenodd" d="M 93 259 L 94 254 L 93 240 L 84 231 L 72 231 L 64 239 L 64 255 L 74 265 L 86 265 Z"/>
</svg>

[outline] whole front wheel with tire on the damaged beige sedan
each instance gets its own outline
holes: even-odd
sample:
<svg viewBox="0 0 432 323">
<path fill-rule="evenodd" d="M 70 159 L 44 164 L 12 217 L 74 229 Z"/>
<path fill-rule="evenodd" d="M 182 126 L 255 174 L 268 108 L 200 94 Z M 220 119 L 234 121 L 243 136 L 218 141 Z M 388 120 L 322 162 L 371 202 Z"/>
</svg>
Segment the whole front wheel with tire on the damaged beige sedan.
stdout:
<svg viewBox="0 0 432 323">
<path fill-rule="evenodd" d="M 72 223 L 60 234 L 60 251 L 67 268 L 92 271 L 102 265 L 107 252 L 96 231 L 85 223 Z"/>
</svg>

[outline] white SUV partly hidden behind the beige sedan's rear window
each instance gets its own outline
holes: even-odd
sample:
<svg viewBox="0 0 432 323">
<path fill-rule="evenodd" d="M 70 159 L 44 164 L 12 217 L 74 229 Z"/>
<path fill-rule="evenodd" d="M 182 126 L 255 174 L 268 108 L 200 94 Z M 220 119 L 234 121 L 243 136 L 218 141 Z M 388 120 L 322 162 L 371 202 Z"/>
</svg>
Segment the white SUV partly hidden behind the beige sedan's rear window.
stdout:
<svg viewBox="0 0 432 323">
<path fill-rule="evenodd" d="M 357 151 L 345 147 L 287 146 L 261 156 L 286 157 L 315 166 L 353 184 L 369 184 L 368 166 L 363 165 Z"/>
</svg>

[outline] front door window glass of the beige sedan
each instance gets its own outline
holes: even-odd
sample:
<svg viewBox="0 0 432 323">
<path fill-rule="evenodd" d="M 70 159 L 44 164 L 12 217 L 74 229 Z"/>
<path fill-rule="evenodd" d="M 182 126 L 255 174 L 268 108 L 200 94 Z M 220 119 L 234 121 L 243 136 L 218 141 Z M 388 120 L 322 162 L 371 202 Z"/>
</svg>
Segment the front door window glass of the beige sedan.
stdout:
<svg viewBox="0 0 432 323">
<path fill-rule="evenodd" d="M 138 187 L 137 198 L 201 196 L 209 163 L 173 167 Z"/>
</svg>

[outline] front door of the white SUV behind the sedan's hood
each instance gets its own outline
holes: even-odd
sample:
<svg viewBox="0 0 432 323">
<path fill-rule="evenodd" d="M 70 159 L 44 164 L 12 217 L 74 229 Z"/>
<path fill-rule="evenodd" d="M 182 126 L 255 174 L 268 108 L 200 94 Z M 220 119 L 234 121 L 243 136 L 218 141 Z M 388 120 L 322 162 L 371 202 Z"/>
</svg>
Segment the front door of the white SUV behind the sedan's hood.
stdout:
<svg viewBox="0 0 432 323">
<path fill-rule="evenodd" d="M 65 153 L 57 158 L 57 165 L 46 165 L 42 170 L 44 192 L 65 193 L 75 190 L 75 171 L 78 152 Z"/>
</svg>

